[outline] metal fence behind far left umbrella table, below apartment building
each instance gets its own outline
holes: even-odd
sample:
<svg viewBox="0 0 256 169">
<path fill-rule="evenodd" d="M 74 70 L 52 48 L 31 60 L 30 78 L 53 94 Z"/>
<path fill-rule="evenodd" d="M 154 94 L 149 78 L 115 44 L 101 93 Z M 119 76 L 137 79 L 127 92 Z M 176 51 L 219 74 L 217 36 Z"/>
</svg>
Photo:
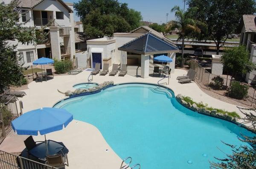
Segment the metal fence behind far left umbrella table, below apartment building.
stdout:
<svg viewBox="0 0 256 169">
<path fill-rule="evenodd" d="M 73 60 L 58 61 L 50 65 L 31 65 L 23 71 L 23 75 L 28 79 L 35 78 L 35 73 L 44 73 L 51 69 L 53 74 L 65 74 L 77 68 L 77 58 Z"/>
</svg>

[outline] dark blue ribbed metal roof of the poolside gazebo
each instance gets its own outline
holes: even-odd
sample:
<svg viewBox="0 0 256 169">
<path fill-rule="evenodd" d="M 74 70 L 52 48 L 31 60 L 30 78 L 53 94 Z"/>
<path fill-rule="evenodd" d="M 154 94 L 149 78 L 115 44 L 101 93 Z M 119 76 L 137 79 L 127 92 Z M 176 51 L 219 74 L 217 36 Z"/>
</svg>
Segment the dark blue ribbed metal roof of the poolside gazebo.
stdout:
<svg viewBox="0 0 256 169">
<path fill-rule="evenodd" d="M 160 54 L 178 51 L 171 42 L 157 37 L 156 35 L 148 32 L 142 36 L 122 45 L 118 48 L 119 51 L 127 51 L 135 54 Z"/>
</svg>

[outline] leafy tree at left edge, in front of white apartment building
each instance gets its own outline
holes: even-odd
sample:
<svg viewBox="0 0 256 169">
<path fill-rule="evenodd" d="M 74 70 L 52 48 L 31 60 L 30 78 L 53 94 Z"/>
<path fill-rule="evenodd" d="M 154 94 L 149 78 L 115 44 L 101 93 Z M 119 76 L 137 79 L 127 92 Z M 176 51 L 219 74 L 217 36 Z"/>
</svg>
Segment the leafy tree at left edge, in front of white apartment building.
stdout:
<svg viewBox="0 0 256 169">
<path fill-rule="evenodd" d="M 12 45 L 12 41 L 17 39 L 23 44 L 35 44 L 44 42 L 43 38 L 47 34 L 39 30 L 40 39 L 36 38 L 35 28 L 24 27 L 24 23 L 17 23 L 20 18 L 21 10 L 18 7 L 19 1 L 13 0 L 9 4 L 0 3 L 0 93 L 9 85 L 20 84 L 23 79 L 22 65 L 17 54 L 17 45 Z M 42 28 L 43 29 L 43 28 Z"/>
</svg>

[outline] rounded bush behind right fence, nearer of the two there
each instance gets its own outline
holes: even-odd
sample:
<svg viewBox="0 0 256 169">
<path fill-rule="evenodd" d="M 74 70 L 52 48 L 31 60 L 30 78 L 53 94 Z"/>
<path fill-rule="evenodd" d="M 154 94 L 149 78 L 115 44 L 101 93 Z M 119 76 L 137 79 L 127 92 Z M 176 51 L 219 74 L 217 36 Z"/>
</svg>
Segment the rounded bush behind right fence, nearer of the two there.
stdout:
<svg viewBox="0 0 256 169">
<path fill-rule="evenodd" d="M 233 81 L 230 83 L 230 88 L 227 92 L 227 96 L 233 99 L 244 99 L 248 95 L 248 85 L 244 85 L 240 82 Z"/>
</svg>

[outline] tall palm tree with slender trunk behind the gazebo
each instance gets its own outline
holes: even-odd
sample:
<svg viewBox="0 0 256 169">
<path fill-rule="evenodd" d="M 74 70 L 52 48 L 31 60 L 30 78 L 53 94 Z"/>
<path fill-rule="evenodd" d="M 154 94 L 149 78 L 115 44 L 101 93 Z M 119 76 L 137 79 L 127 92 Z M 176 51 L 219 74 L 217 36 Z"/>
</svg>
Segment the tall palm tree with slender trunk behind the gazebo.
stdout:
<svg viewBox="0 0 256 169">
<path fill-rule="evenodd" d="M 179 29 L 178 39 L 182 39 L 182 67 L 184 57 L 184 39 L 185 37 L 195 37 L 201 34 L 201 28 L 206 28 L 206 24 L 193 19 L 192 12 L 196 12 L 197 8 L 190 8 L 189 11 L 183 11 L 179 6 L 172 8 L 171 12 L 175 12 L 176 20 L 171 20 L 166 24 L 166 29 L 173 31 L 175 28 Z"/>
</svg>

